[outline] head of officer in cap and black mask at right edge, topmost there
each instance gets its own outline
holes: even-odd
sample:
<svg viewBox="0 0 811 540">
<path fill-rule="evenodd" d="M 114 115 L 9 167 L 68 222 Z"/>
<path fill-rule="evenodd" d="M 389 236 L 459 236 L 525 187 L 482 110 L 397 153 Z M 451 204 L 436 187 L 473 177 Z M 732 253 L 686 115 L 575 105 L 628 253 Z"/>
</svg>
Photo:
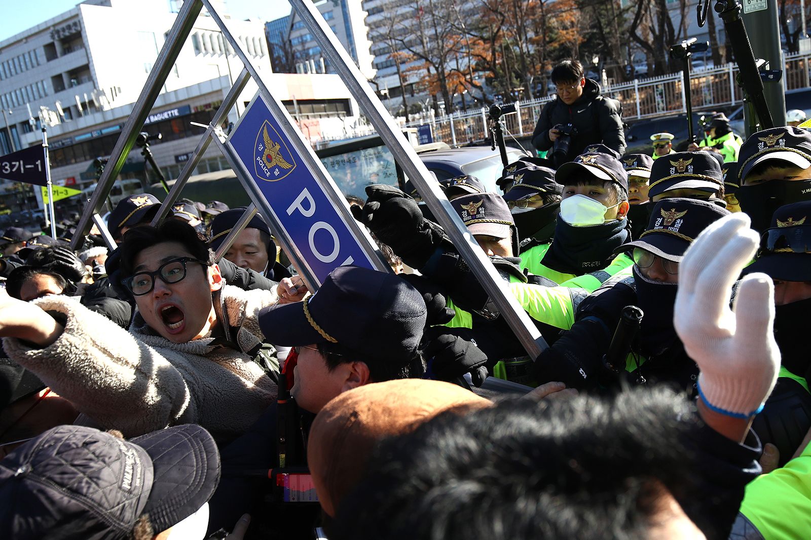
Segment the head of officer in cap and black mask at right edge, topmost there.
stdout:
<svg viewBox="0 0 811 540">
<path fill-rule="evenodd" d="M 736 191 L 740 210 L 764 232 L 785 204 L 811 199 L 811 131 L 773 127 L 758 131 L 740 147 Z"/>
</svg>

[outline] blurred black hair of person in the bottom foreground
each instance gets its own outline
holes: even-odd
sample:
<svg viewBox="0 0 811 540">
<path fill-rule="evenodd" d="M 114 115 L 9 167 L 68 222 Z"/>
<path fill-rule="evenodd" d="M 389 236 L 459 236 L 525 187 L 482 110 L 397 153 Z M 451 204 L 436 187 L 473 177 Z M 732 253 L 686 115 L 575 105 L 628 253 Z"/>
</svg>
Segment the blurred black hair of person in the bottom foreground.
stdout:
<svg viewBox="0 0 811 540">
<path fill-rule="evenodd" d="M 642 388 L 440 414 L 379 445 L 329 538 L 646 538 L 699 481 L 693 410 Z"/>
</svg>

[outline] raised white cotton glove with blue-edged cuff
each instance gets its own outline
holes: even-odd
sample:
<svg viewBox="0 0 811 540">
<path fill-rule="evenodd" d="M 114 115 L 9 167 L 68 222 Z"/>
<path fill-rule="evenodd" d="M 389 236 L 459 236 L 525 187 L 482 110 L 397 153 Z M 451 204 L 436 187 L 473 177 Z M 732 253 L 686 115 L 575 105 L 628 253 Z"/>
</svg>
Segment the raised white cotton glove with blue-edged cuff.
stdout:
<svg viewBox="0 0 811 540">
<path fill-rule="evenodd" d="M 679 265 L 673 323 L 701 369 L 698 391 L 720 413 L 749 418 L 775 388 L 775 289 L 762 273 L 745 276 L 729 309 L 732 284 L 752 260 L 759 238 L 749 216 L 735 213 L 698 235 Z"/>
</svg>

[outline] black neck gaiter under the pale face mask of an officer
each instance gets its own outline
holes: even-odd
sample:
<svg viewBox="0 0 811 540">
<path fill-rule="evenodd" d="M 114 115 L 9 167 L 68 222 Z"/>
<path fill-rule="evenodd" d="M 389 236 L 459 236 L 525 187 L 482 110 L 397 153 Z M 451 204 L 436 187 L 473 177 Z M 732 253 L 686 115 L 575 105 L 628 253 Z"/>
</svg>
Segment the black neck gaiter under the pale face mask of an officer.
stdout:
<svg viewBox="0 0 811 540">
<path fill-rule="evenodd" d="M 603 225 L 573 227 L 559 219 L 543 265 L 575 276 L 602 270 L 614 259 L 614 251 L 628 241 L 626 225 L 627 220 L 612 220 Z"/>
</svg>

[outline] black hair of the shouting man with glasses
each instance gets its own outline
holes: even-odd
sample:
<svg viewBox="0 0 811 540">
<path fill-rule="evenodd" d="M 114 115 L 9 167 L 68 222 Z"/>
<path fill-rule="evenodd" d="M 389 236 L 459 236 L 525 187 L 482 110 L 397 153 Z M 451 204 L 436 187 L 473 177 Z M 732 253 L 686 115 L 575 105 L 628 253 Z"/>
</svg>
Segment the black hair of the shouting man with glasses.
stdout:
<svg viewBox="0 0 811 540">
<path fill-rule="evenodd" d="M 214 264 L 214 252 L 208 249 L 208 243 L 197 229 L 186 221 L 164 220 L 161 225 L 152 227 L 144 225 L 129 229 L 122 238 L 118 251 L 121 252 L 121 266 L 119 275 L 131 276 L 135 267 L 135 257 L 146 248 L 161 242 L 178 242 L 184 246 L 191 256 L 208 265 Z"/>
</svg>

